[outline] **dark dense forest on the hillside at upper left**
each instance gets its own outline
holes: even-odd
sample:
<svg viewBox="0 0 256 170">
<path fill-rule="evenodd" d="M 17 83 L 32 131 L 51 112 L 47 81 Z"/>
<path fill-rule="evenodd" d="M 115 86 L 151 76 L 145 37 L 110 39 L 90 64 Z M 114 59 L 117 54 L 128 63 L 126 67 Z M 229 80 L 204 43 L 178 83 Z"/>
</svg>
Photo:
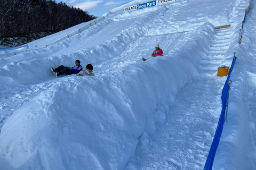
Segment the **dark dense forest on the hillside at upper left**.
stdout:
<svg viewBox="0 0 256 170">
<path fill-rule="evenodd" d="M 55 0 L 0 0 L 0 37 L 59 32 L 97 17 Z"/>
</svg>

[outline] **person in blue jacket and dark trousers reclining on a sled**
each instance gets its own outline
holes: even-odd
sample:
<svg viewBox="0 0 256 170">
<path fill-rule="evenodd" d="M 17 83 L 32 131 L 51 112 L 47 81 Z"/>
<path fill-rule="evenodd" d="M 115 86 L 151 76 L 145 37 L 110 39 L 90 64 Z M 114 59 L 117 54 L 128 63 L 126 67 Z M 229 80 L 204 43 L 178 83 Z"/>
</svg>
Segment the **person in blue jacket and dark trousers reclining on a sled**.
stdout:
<svg viewBox="0 0 256 170">
<path fill-rule="evenodd" d="M 77 60 L 75 62 L 76 65 L 74 67 L 65 67 L 65 66 L 61 65 L 61 66 L 58 66 L 56 69 L 51 68 L 51 70 L 57 75 L 57 77 L 59 77 L 60 75 L 65 74 L 65 73 L 67 75 L 77 74 L 77 73 L 79 73 L 80 71 L 83 70 L 83 66 L 80 65 L 80 63 L 81 62 L 79 60 Z"/>
</svg>

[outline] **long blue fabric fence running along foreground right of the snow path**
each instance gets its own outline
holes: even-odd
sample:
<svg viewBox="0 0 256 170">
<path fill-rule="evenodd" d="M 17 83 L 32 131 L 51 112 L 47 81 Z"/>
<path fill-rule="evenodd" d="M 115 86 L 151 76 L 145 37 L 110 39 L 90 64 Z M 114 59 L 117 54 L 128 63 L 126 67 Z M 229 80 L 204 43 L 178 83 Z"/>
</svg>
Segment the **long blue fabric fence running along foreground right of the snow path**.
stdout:
<svg viewBox="0 0 256 170">
<path fill-rule="evenodd" d="M 222 133 L 222 130 L 223 130 L 223 125 L 224 125 L 224 122 L 225 122 L 225 111 L 226 111 L 227 97 L 228 97 L 228 81 L 229 81 L 230 74 L 233 70 L 235 62 L 236 62 L 236 56 L 234 54 L 233 62 L 231 64 L 229 74 L 228 74 L 226 83 L 223 87 L 222 94 L 221 94 L 222 110 L 221 110 L 221 114 L 220 114 L 220 118 L 219 118 L 219 123 L 218 123 L 218 126 L 217 126 L 217 130 L 215 132 L 213 141 L 212 141 L 212 146 L 211 146 L 211 149 L 209 151 L 209 155 L 207 156 L 207 159 L 206 159 L 206 162 L 205 162 L 205 165 L 204 165 L 204 170 L 212 169 L 215 153 L 216 153 L 216 150 L 219 146 L 220 137 L 221 137 L 221 133 Z"/>
</svg>

